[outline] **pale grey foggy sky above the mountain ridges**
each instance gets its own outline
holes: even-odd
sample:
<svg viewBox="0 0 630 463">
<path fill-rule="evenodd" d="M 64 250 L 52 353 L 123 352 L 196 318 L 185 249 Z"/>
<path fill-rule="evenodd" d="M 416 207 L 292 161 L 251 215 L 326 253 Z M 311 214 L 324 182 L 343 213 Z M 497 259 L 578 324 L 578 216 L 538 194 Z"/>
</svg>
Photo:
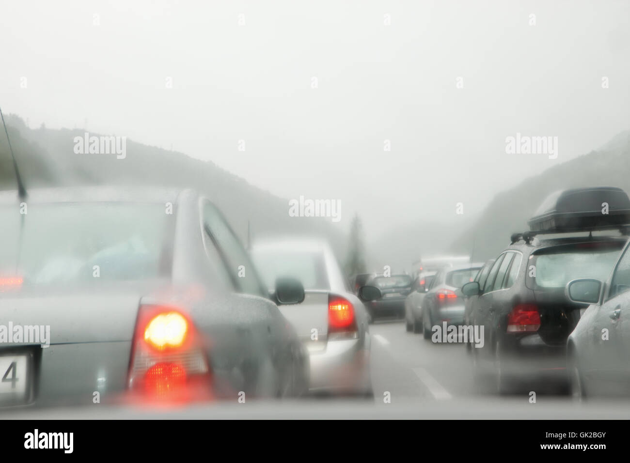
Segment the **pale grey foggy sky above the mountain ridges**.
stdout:
<svg viewBox="0 0 630 463">
<path fill-rule="evenodd" d="M 477 214 L 629 129 L 629 18 L 629 1 L 0 0 L 0 105 L 341 200 L 333 226 L 358 211 L 372 238 Z M 506 154 L 517 132 L 558 137 L 558 158 Z"/>
</svg>

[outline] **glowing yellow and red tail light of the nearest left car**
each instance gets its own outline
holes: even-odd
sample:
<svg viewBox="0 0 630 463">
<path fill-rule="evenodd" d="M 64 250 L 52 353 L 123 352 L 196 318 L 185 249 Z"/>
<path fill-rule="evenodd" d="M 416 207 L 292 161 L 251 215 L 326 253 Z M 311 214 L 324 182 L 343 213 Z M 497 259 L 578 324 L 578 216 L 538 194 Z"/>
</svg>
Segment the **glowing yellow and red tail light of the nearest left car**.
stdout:
<svg viewBox="0 0 630 463">
<path fill-rule="evenodd" d="M 147 398 L 205 398 L 212 374 L 198 333 L 184 311 L 140 306 L 129 366 L 129 388 Z"/>
</svg>

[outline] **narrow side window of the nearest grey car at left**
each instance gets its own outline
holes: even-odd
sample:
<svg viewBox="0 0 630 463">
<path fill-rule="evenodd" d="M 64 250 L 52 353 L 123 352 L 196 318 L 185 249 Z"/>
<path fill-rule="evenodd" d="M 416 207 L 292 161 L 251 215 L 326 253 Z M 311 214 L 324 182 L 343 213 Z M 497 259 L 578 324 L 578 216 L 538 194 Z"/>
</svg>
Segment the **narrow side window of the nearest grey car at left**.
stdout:
<svg viewBox="0 0 630 463">
<path fill-rule="evenodd" d="M 203 226 L 224 260 L 234 284 L 246 294 L 265 296 L 255 266 L 243 246 L 212 203 L 203 206 Z"/>
</svg>

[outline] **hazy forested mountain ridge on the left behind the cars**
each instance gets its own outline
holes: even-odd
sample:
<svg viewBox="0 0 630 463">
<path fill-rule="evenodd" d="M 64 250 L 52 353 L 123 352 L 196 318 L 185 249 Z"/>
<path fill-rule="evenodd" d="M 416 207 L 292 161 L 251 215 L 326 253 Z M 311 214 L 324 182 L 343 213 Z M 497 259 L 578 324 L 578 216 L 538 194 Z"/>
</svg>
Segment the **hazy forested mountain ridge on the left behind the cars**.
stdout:
<svg viewBox="0 0 630 463">
<path fill-rule="evenodd" d="M 221 208 L 243 242 L 275 232 L 328 237 L 340 256 L 345 236 L 337 224 L 321 217 L 289 217 L 289 201 L 250 185 L 210 161 L 151 147 L 127 139 L 126 157 L 76 154 L 74 137 L 84 129 L 29 129 L 20 117 L 5 117 L 13 151 L 26 188 L 76 185 L 147 185 L 195 188 Z M 100 136 L 95 132 L 89 135 Z M 0 189 L 16 188 L 6 136 L 0 137 Z"/>
</svg>

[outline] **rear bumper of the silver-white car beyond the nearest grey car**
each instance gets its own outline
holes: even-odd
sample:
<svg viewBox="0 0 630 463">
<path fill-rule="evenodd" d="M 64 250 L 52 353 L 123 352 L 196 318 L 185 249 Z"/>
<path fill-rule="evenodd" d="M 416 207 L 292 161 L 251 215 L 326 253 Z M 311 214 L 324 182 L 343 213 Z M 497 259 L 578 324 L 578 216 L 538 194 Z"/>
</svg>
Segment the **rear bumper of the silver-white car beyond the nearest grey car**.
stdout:
<svg viewBox="0 0 630 463">
<path fill-rule="evenodd" d="M 331 340 L 311 352 L 311 391 L 364 391 L 369 388 L 370 351 L 358 339 Z"/>
</svg>

